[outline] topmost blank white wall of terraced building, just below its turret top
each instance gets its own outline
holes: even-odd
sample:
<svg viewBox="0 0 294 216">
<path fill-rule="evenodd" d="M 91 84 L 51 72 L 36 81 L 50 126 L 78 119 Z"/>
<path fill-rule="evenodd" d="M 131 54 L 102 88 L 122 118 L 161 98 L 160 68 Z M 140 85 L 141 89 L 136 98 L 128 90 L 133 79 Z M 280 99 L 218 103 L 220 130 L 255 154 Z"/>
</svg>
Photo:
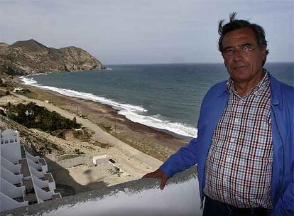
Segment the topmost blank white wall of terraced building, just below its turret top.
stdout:
<svg viewBox="0 0 294 216">
<path fill-rule="evenodd" d="M 13 144 L 1 144 L 1 156 L 4 156 L 6 160 L 13 164 L 17 164 L 21 159 L 21 145 L 18 143 Z"/>
</svg>

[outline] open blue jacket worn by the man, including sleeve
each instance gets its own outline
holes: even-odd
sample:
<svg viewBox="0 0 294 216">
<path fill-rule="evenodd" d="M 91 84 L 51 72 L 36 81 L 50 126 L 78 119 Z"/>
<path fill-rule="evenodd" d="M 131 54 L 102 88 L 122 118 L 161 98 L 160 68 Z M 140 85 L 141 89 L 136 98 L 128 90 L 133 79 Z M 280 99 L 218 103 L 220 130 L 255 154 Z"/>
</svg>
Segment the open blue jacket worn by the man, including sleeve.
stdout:
<svg viewBox="0 0 294 216">
<path fill-rule="evenodd" d="M 294 215 L 294 87 L 271 76 L 271 124 L 273 134 L 273 176 L 271 215 Z M 214 129 L 229 99 L 227 81 L 214 85 L 203 99 L 198 136 L 170 156 L 160 169 L 170 178 L 197 163 L 200 197 L 203 201 L 205 161 Z"/>
</svg>

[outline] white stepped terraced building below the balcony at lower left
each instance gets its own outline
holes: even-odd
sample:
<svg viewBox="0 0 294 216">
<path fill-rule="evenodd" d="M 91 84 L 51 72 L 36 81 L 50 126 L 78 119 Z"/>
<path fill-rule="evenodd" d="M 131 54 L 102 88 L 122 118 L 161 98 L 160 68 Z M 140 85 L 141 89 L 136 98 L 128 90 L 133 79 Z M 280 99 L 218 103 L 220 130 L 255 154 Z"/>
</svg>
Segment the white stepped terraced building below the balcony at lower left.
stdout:
<svg viewBox="0 0 294 216">
<path fill-rule="evenodd" d="M 0 131 L 0 212 L 61 198 L 44 158 L 20 144 L 17 131 Z"/>
</svg>

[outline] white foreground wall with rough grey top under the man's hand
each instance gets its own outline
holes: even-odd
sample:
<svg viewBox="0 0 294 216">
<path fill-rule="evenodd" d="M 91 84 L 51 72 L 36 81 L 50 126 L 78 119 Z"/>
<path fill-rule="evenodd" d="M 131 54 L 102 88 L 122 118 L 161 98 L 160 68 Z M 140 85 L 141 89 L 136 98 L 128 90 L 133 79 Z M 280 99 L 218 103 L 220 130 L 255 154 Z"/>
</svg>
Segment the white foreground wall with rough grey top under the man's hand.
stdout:
<svg viewBox="0 0 294 216">
<path fill-rule="evenodd" d="M 158 180 L 144 178 L 4 212 L 3 216 L 200 216 L 202 211 L 195 172 L 195 168 L 191 168 L 175 175 L 168 180 L 164 190 L 158 188 Z"/>
</svg>

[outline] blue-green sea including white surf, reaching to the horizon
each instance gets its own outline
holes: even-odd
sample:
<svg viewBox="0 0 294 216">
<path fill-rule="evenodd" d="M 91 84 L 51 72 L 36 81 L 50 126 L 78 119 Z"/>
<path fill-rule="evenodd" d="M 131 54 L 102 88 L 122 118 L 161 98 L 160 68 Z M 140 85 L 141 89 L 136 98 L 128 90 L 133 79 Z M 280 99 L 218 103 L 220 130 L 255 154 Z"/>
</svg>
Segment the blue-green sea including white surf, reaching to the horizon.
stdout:
<svg viewBox="0 0 294 216">
<path fill-rule="evenodd" d="M 200 105 L 209 87 L 227 80 L 223 64 L 107 65 L 108 70 L 22 77 L 28 85 L 109 104 L 131 121 L 182 136 L 197 136 Z M 294 85 L 294 63 L 266 63 Z"/>
</svg>

